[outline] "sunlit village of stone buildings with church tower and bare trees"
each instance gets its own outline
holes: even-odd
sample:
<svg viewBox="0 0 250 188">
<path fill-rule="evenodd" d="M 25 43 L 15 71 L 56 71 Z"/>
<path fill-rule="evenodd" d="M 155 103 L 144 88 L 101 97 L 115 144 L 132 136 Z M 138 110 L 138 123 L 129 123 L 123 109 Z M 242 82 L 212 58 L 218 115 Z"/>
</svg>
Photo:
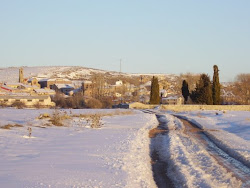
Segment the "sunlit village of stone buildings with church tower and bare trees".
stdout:
<svg viewBox="0 0 250 188">
<path fill-rule="evenodd" d="M 150 100 L 151 80 L 140 76 L 139 84 L 116 79 L 109 82 L 102 76 L 94 76 L 86 80 L 70 80 L 68 78 L 24 77 L 24 69 L 20 68 L 18 82 L 0 83 L 1 106 L 14 107 L 54 107 L 56 95 L 71 98 L 77 94 L 85 100 L 99 98 L 109 99 L 113 107 L 129 108 L 129 104 L 140 102 L 148 104 Z M 161 104 L 182 105 L 183 97 L 172 85 L 162 80 L 159 82 Z"/>
</svg>

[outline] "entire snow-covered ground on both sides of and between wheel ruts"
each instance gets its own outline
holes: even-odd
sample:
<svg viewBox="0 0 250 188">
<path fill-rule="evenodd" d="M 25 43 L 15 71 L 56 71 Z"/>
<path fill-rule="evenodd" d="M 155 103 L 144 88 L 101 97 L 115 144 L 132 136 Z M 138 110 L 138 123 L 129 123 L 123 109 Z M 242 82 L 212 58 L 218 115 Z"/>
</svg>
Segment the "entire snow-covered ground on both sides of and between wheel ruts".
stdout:
<svg viewBox="0 0 250 188">
<path fill-rule="evenodd" d="M 153 150 L 176 187 L 250 187 L 250 112 L 155 110 L 168 132 L 150 140 L 158 126 L 150 111 L 66 110 L 72 118 L 59 127 L 37 118 L 54 110 L 0 109 L 1 127 L 23 125 L 0 129 L 0 187 L 156 187 Z M 116 115 L 91 128 L 78 116 L 90 113 Z M 198 125 L 200 136 L 173 115 Z"/>
</svg>

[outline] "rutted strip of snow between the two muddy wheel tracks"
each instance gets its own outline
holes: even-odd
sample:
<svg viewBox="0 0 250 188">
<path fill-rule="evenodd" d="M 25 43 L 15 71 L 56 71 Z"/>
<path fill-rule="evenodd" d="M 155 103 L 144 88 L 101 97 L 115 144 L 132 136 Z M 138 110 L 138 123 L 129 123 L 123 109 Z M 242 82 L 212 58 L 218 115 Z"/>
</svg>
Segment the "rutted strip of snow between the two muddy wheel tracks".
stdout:
<svg viewBox="0 0 250 188">
<path fill-rule="evenodd" d="M 211 157 L 203 144 L 183 133 L 180 120 L 170 114 L 159 120 L 169 133 L 153 138 L 152 143 L 168 163 L 167 173 L 176 187 L 241 187 L 242 182 Z"/>
</svg>

